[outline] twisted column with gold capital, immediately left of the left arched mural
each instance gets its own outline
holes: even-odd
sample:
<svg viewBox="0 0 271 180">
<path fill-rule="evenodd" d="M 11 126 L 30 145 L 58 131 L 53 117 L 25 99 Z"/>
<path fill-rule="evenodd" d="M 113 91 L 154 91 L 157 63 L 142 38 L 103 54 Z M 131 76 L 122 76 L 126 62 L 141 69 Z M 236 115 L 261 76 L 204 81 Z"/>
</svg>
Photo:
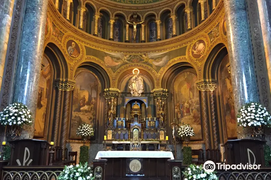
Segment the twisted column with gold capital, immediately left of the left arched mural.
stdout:
<svg viewBox="0 0 271 180">
<path fill-rule="evenodd" d="M 75 85 L 75 81 L 72 79 L 60 79 L 59 88 L 64 93 L 64 110 L 63 110 L 63 116 L 62 116 L 62 122 L 61 122 L 61 142 L 60 146 L 63 149 L 63 155 L 64 155 L 64 149 L 66 148 L 66 141 L 68 139 L 68 133 L 69 133 L 69 120 L 70 120 L 70 110 L 71 110 L 71 95 L 72 91 Z"/>
</svg>

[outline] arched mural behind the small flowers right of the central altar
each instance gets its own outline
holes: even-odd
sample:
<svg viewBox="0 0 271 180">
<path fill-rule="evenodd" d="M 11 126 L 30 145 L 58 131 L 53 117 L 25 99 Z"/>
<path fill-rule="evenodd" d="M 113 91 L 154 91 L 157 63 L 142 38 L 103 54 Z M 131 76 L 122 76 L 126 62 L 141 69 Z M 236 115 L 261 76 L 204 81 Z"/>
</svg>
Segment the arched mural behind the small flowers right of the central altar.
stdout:
<svg viewBox="0 0 271 180">
<path fill-rule="evenodd" d="M 199 91 L 196 87 L 197 75 L 184 71 L 173 82 L 175 119 L 179 125 L 189 124 L 195 131 L 193 140 L 202 139 Z"/>
</svg>

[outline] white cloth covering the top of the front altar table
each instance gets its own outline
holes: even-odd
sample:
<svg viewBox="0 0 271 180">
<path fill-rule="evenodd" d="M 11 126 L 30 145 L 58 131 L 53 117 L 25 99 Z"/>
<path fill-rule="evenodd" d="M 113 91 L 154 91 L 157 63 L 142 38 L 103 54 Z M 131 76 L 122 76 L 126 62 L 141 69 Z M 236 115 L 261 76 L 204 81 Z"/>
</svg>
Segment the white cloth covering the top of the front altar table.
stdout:
<svg viewBox="0 0 271 180">
<path fill-rule="evenodd" d="M 166 151 L 99 151 L 95 159 L 100 158 L 170 158 L 172 152 Z"/>
</svg>

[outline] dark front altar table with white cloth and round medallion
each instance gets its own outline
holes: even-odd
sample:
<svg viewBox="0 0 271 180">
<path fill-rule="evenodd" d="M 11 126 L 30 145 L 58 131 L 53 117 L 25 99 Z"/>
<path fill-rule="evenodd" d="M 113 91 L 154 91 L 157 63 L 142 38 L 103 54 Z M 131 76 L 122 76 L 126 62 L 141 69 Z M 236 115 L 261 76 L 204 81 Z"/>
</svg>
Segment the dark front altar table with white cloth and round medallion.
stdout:
<svg viewBox="0 0 271 180">
<path fill-rule="evenodd" d="M 170 177 L 167 160 L 174 157 L 163 151 L 99 151 L 95 159 L 107 159 L 106 180 L 164 180 Z"/>
</svg>

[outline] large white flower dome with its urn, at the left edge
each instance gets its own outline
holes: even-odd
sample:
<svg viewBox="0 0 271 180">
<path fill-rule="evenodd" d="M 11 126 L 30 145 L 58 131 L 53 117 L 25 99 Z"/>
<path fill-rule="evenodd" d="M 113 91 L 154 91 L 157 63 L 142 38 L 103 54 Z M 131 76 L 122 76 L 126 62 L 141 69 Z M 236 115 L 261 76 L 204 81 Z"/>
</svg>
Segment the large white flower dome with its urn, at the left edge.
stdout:
<svg viewBox="0 0 271 180">
<path fill-rule="evenodd" d="M 26 105 L 13 103 L 0 112 L 0 124 L 6 126 L 7 137 L 11 140 L 20 138 L 23 125 L 32 124 L 32 113 Z"/>
</svg>

